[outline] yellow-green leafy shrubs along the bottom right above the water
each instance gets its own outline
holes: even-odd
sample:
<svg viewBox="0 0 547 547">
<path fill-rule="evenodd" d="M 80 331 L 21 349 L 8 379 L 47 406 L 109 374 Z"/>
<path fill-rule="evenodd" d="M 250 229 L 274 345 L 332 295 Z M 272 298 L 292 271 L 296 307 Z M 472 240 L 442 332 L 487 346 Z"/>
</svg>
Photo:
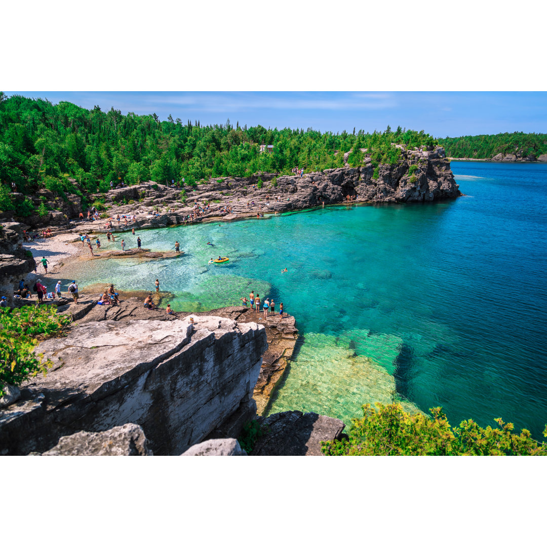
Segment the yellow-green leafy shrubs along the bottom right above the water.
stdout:
<svg viewBox="0 0 547 547">
<path fill-rule="evenodd" d="M 352 419 L 349 438 L 322 442 L 327 456 L 545 456 L 547 444 L 532 439 L 527 429 L 512 433 L 514 425 L 496 418 L 501 428 L 482 428 L 464 420 L 452 428 L 440 407 L 433 418 L 411 416 L 398 403 L 377 410 L 363 405 L 363 418 Z M 547 437 L 547 426 L 544 436 Z"/>
</svg>

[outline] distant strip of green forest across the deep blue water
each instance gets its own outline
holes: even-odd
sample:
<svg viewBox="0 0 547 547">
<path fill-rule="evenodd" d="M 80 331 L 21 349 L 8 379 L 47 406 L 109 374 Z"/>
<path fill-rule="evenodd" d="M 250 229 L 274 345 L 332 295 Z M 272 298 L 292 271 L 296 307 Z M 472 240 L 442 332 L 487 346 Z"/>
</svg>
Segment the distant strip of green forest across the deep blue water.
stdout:
<svg viewBox="0 0 547 547">
<path fill-rule="evenodd" d="M 545 133 L 498 133 L 498 135 L 468 135 L 465 137 L 440 138 L 446 155 L 451 158 L 491 159 L 496 154 L 532 154 L 538 158 L 547 154 L 547 135 Z"/>
</svg>

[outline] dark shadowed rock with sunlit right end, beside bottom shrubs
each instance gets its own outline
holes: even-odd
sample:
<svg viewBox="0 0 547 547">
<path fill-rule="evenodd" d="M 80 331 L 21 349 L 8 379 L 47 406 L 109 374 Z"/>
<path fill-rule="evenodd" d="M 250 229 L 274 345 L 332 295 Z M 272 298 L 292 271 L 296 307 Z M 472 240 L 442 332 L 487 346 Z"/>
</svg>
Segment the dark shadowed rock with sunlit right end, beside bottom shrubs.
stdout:
<svg viewBox="0 0 547 547">
<path fill-rule="evenodd" d="M 252 456 L 321 456 L 321 441 L 340 439 L 345 427 L 337 418 L 298 410 L 258 421 L 265 433 L 255 443 Z"/>
</svg>

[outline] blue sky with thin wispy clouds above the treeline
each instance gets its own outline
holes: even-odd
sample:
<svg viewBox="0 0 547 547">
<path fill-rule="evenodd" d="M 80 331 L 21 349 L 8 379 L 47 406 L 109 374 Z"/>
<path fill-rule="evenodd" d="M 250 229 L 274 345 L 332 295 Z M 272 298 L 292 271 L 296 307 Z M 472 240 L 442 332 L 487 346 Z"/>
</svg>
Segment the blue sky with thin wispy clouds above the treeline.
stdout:
<svg viewBox="0 0 547 547">
<path fill-rule="evenodd" d="M 435 137 L 499 132 L 547 132 L 547 92 L 505 91 L 6 91 L 7 95 L 98 104 L 123 114 L 171 114 L 184 122 L 321 131 L 384 130 L 387 125 L 423 129 Z"/>
</svg>

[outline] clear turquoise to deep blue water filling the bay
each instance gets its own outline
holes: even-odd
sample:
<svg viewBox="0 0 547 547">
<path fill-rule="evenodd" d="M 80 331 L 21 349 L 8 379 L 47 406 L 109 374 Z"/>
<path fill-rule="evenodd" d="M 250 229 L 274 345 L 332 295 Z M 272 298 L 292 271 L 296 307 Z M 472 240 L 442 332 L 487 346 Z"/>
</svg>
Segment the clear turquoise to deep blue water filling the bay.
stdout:
<svg viewBox="0 0 547 547">
<path fill-rule="evenodd" d="M 452 424 L 501 416 L 541 439 L 547 165 L 452 162 L 452 171 L 467 195 L 449 202 L 142 230 L 143 247 L 178 240 L 186 254 L 94 261 L 79 282 L 153 290 L 157 277 L 185 311 L 240 304 L 250 289 L 277 309 L 282 301 L 304 344 L 271 412 L 347 421 L 364 402 L 402 399 L 443 406 Z M 218 255 L 229 263 L 207 264 Z"/>
</svg>

